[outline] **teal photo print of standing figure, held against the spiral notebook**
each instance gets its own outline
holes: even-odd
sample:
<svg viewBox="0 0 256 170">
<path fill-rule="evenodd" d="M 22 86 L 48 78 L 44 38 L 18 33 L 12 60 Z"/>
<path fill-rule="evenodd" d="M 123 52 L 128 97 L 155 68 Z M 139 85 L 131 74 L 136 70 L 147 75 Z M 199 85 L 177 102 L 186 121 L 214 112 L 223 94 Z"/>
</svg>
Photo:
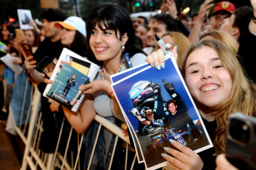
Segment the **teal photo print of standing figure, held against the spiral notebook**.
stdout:
<svg viewBox="0 0 256 170">
<path fill-rule="evenodd" d="M 76 112 L 85 98 L 85 95 L 79 91 L 79 86 L 89 82 L 88 76 L 74 69 L 69 64 L 64 64 L 50 90 L 47 92 L 47 97 Z"/>
</svg>

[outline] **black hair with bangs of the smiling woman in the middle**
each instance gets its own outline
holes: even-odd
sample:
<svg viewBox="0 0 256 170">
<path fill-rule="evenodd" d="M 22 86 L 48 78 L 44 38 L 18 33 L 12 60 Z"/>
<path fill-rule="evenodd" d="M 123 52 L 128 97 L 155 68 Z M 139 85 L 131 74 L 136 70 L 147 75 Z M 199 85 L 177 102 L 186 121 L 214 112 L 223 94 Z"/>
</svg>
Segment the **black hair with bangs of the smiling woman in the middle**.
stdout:
<svg viewBox="0 0 256 170">
<path fill-rule="evenodd" d="M 128 52 L 130 56 L 133 56 L 138 52 L 145 54 L 145 52 L 143 52 L 142 48 L 138 44 L 137 38 L 135 37 L 134 27 L 132 26 L 131 18 L 127 11 L 121 6 L 111 3 L 100 4 L 99 6 L 91 10 L 88 15 L 88 21 L 86 24 L 86 31 L 88 33 L 88 59 L 93 61 L 94 63 L 99 65 L 103 64 L 102 61 L 96 60 L 89 44 L 91 30 L 93 30 L 96 24 L 98 24 L 101 30 L 103 30 L 103 25 L 107 29 L 114 30 L 115 33 L 117 33 L 117 30 L 119 30 L 120 40 L 122 38 L 122 35 L 127 33 L 128 41 L 125 44 L 125 51 L 122 52 L 122 54 L 125 54 L 126 52 Z"/>
</svg>

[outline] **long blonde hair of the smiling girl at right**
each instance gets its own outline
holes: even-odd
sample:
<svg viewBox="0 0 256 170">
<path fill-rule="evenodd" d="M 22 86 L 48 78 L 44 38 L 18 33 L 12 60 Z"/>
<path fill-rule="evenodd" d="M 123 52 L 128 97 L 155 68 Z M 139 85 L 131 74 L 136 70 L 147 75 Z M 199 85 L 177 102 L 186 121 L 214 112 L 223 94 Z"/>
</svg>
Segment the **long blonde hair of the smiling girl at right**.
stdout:
<svg viewBox="0 0 256 170">
<path fill-rule="evenodd" d="M 234 112 L 243 112 L 245 115 L 255 116 L 256 112 L 256 85 L 247 78 L 243 68 L 236 58 L 236 54 L 214 39 L 206 39 L 205 41 L 196 41 L 191 44 L 191 47 L 184 54 L 181 69 L 186 77 L 186 59 L 195 50 L 203 47 L 211 47 L 217 52 L 223 67 L 229 72 L 232 78 L 232 92 L 229 98 L 219 106 L 214 106 L 215 119 L 217 128 L 215 130 L 214 149 L 217 154 L 225 152 L 226 140 L 226 118 Z M 186 78 L 185 78 L 186 79 Z"/>
</svg>

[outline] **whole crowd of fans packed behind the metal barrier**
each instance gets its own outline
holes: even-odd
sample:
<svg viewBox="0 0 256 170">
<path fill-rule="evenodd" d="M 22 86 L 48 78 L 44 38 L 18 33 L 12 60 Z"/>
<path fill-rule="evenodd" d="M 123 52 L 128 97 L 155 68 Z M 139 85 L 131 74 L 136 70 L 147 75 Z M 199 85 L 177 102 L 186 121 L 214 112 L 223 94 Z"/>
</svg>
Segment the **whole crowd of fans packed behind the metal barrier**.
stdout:
<svg viewBox="0 0 256 170">
<path fill-rule="evenodd" d="M 22 72 L 17 74 L 3 62 L 0 64 L 1 119 L 8 123 L 10 113 L 20 115 L 27 112 L 32 84 L 36 84 L 43 93 L 45 86 L 53 83 L 37 67 L 46 56 L 56 63 L 65 47 L 88 58 L 100 69 L 95 80 L 79 86 L 85 94 L 79 111 L 72 112 L 43 95 L 40 108 L 44 120 L 40 149 L 47 153 L 55 152 L 59 122 L 65 118 L 66 128 L 72 126 L 77 133 L 85 133 L 83 165 L 87 169 L 92 141 L 95 140 L 93 137 L 99 127 L 94 120 L 95 115 L 101 115 L 117 126 L 125 123 L 111 88 L 110 75 L 129 69 L 123 64 L 126 53 L 133 67 L 148 62 L 151 67 L 164 69 L 164 53 L 155 39 L 157 34 L 165 42 L 166 50 L 174 53 L 214 144 L 214 148 L 196 154 L 171 140 L 177 150 L 165 148 L 162 156 L 171 169 L 235 169 L 223 156 L 226 150 L 226 118 L 233 112 L 256 115 L 256 76 L 252 58 L 252 42 L 256 41 L 256 0 L 251 0 L 252 7 L 235 7 L 230 1 L 212 2 L 205 0 L 190 21 L 177 11 L 174 0 L 164 0 L 161 13 L 149 19 L 139 16 L 135 21 L 131 21 L 127 10 L 110 2 L 94 7 L 85 21 L 77 16 L 68 17 L 59 9 L 44 8 L 40 12 L 42 25 L 30 21 L 34 29 L 23 30 L 23 41 L 16 36 L 19 26 L 2 24 L 0 41 L 7 45 L 13 64 L 22 67 Z M 209 14 L 211 8 L 213 10 Z M 24 52 L 24 41 L 32 47 L 32 54 Z M 4 55 L 1 52 L 1 56 Z M 171 103 L 174 108 L 181 107 L 175 104 L 175 99 L 168 103 L 170 107 Z M 177 118 L 179 113 L 176 113 Z M 154 123 L 154 114 L 154 110 L 149 109 L 147 122 L 142 121 L 140 126 Z M 188 115 L 186 118 L 189 126 L 196 128 Z M 19 124 L 18 120 L 16 124 Z M 15 133 L 13 129 L 7 130 Z M 123 130 L 126 136 L 130 136 L 128 129 Z M 48 140 L 49 137 L 52 140 Z M 108 169 L 111 154 L 115 155 L 112 168 L 122 169 L 122 161 L 119 161 L 122 143 L 119 143 L 119 149 L 114 150 L 114 140 L 111 132 L 101 130 L 91 169 Z"/>
</svg>

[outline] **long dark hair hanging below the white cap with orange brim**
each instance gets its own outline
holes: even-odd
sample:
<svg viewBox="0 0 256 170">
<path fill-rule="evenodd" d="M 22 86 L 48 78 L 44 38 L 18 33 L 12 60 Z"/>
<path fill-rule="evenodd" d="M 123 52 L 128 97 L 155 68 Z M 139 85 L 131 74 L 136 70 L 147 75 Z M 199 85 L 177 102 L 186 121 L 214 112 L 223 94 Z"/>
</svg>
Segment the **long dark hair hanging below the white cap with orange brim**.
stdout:
<svg viewBox="0 0 256 170">
<path fill-rule="evenodd" d="M 66 46 L 64 46 L 66 47 Z M 75 38 L 73 39 L 73 42 L 70 44 L 69 50 L 76 52 L 76 54 L 81 55 L 82 57 L 85 57 L 87 55 L 87 42 L 86 38 L 82 33 L 80 33 L 78 30 L 76 30 Z"/>
</svg>

